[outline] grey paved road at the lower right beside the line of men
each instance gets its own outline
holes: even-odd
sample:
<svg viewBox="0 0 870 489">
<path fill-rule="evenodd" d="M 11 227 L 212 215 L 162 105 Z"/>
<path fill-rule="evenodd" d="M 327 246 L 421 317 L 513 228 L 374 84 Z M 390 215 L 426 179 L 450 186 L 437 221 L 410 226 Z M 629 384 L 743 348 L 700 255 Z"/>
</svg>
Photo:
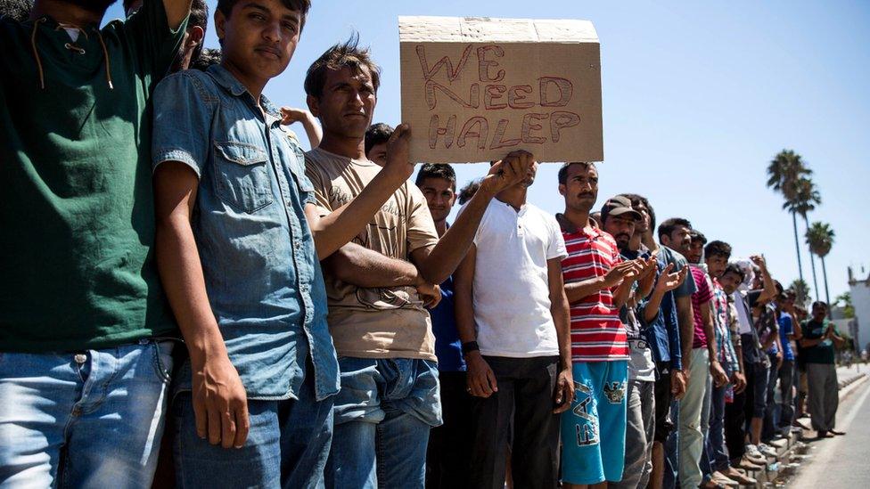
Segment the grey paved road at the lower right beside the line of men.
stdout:
<svg viewBox="0 0 870 489">
<path fill-rule="evenodd" d="M 801 464 L 789 489 L 870 487 L 870 381 L 841 400 L 837 429 L 846 436 L 808 442 L 812 458 Z"/>
</svg>

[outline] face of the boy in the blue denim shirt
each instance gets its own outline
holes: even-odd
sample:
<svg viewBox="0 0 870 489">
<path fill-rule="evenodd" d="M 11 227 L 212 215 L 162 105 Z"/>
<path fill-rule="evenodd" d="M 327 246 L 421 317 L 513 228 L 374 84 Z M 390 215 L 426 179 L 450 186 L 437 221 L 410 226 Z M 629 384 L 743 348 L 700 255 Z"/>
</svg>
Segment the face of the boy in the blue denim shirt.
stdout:
<svg viewBox="0 0 870 489">
<path fill-rule="evenodd" d="M 225 62 L 258 79 L 276 77 L 287 68 L 299 44 L 301 21 L 300 12 L 281 0 L 242 0 L 228 17 L 215 12 Z"/>
</svg>

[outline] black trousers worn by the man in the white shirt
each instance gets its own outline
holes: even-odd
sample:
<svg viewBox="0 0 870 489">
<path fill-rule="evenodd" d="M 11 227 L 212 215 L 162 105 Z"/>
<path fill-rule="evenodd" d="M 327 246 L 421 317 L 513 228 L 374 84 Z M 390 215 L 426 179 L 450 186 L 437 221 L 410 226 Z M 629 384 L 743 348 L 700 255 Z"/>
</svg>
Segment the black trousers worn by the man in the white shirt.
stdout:
<svg viewBox="0 0 870 489">
<path fill-rule="evenodd" d="M 469 484 L 503 489 L 509 441 L 513 487 L 553 488 L 558 481 L 560 417 L 553 413 L 559 357 L 485 356 L 498 391 L 475 397 Z M 511 433 L 513 432 L 513 437 Z"/>
</svg>

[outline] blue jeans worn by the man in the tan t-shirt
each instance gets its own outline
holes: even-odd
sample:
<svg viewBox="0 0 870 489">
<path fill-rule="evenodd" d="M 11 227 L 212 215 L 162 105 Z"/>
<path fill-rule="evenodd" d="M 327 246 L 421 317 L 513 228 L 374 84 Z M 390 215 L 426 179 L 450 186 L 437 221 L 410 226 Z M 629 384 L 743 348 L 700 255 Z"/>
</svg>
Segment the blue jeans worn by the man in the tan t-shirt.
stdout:
<svg viewBox="0 0 870 489">
<path fill-rule="evenodd" d="M 327 487 L 423 487 L 429 431 L 441 424 L 435 362 L 340 357 Z"/>
</svg>

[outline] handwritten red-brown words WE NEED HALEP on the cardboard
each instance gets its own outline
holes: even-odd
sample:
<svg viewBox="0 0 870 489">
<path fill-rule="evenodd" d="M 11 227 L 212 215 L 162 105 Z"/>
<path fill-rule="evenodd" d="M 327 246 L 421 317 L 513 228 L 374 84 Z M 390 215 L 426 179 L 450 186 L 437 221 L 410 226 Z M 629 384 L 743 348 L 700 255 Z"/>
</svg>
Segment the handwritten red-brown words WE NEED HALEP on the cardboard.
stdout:
<svg viewBox="0 0 870 489">
<path fill-rule="evenodd" d="M 499 45 L 482 45 L 477 48 L 467 45 L 456 67 L 447 56 L 430 66 L 426 60 L 425 45 L 416 45 L 415 51 L 423 69 L 423 77 L 426 79 L 426 103 L 430 111 L 438 110 L 443 114 L 445 111 L 443 104 L 449 104 L 449 101 L 456 102 L 464 109 L 480 109 L 481 85 L 483 86 L 483 109 L 485 110 L 527 111 L 533 107 L 547 109 L 565 107 L 570 102 L 574 92 L 574 86 L 570 80 L 562 77 L 538 77 L 538 96 L 534 95 L 534 89 L 530 85 L 508 86 L 499 83 L 505 80 L 505 70 L 499 69 L 498 61 L 493 59 L 505 56 L 505 49 Z M 469 86 L 467 98 L 464 98 L 464 94 L 457 94 L 455 90 L 433 79 L 442 68 L 445 69 L 449 82 L 452 83 L 459 79 L 472 51 L 477 55 L 477 79 L 479 81 L 475 81 Z M 439 93 L 446 95 L 449 101 L 439 98 Z M 500 117 L 502 115 L 508 118 Z M 429 147 L 433 150 L 436 148 L 439 136 L 443 136 L 441 140 L 445 148 L 450 148 L 454 142 L 456 142 L 456 146 L 464 148 L 466 140 L 469 138 L 477 140 L 476 146 L 479 150 L 505 148 L 520 143 L 544 144 L 547 142 L 547 136 L 553 143 L 558 143 L 562 129 L 577 126 L 580 123 L 579 114 L 568 110 L 528 111 L 522 115 L 521 121 L 518 116 L 519 114 L 508 115 L 505 112 L 494 113 L 494 117 L 472 116 L 464 121 L 457 134 L 456 114 L 447 116 L 446 121 L 442 121 L 438 114 L 432 114 L 429 124 Z M 490 120 L 495 119 L 497 119 L 497 123 L 490 138 L 489 129 L 492 126 Z M 508 126 L 511 125 L 512 120 L 513 134 L 516 134 L 516 126 L 520 126 L 519 134 L 516 134 L 519 137 L 505 139 L 505 133 L 508 133 Z M 545 121 L 548 121 L 548 130 L 544 128 Z"/>
</svg>

